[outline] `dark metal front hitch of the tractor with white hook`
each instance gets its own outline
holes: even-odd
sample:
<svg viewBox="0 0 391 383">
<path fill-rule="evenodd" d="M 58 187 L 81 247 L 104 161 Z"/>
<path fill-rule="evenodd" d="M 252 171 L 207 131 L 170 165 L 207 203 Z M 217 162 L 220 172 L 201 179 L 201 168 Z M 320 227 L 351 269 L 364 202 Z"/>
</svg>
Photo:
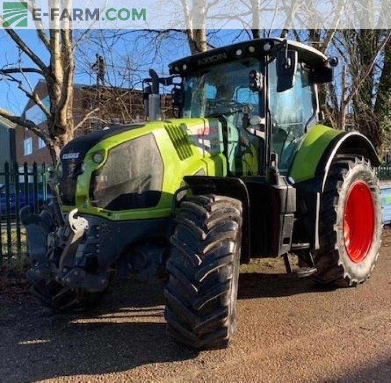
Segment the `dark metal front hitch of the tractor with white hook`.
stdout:
<svg viewBox="0 0 391 383">
<path fill-rule="evenodd" d="M 64 287 L 91 293 L 107 288 L 107 271 L 89 273 L 83 268 L 88 220 L 77 216 L 77 209 L 68 213 L 63 226 L 58 226 L 56 211 L 50 205 L 40 215 L 32 214 L 26 206 L 20 216 L 29 244 L 31 269 L 27 278 L 39 280 L 42 285 L 56 281 Z"/>
</svg>

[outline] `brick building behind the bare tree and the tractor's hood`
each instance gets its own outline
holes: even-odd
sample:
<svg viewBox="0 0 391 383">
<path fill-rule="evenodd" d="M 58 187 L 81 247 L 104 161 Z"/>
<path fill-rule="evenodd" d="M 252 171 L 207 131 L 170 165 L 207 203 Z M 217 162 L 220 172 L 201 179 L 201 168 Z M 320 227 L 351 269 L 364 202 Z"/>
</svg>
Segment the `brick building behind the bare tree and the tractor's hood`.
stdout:
<svg viewBox="0 0 391 383">
<path fill-rule="evenodd" d="M 38 81 L 35 91 L 43 103 L 49 106 L 45 81 Z M 163 117 L 168 118 L 170 114 L 169 99 L 164 98 L 163 104 L 165 105 L 163 107 Z M 77 125 L 86 112 L 95 108 L 99 108 L 99 111 L 83 123 L 81 128 L 75 132 L 75 135 L 93 132 L 107 125 L 126 124 L 145 119 L 142 90 L 75 84 L 73 99 L 74 124 Z M 23 116 L 45 129 L 46 116 L 34 101 L 29 100 L 23 111 Z M 31 166 L 34 162 L 37 164 L 51 163 L 49 150 L 45 143 L 37 135 L 20 125 L 15 128 L 15 146 L 16 161 L 19 164 L 26 162 Z"/>
</svg>

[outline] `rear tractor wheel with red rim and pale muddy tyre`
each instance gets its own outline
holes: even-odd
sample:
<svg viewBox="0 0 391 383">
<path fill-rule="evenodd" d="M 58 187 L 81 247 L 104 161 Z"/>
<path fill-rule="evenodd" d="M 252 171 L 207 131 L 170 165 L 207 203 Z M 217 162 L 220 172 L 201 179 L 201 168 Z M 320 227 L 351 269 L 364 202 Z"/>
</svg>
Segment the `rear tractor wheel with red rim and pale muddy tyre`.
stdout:
<svg viewBox="0 0 391 383">
<path fill-rule="evenodd" d="M 378 179 L 369 160 L 337 157 L 321 196 L 317 281 L 354 286 L 371 275 L 382 234 Z"/>
</svg>

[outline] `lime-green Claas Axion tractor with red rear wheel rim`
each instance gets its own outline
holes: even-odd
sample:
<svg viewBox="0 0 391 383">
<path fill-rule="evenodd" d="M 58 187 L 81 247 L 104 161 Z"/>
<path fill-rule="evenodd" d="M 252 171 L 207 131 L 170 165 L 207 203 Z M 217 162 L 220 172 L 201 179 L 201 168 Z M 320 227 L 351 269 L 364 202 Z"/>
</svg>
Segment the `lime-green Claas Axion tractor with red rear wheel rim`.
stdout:
<svg viewBox="0 0 391 383">
<path fill-rule="evenodd" d="M 321 124 L 317 85 L 336 59 L 266 38 L 178 60 L 145 80 L 149 122 L 78 137 L 52 174 L 59 203 L 21 211 L 31 291 L 63 311 L 99 302 L 113 269 L 166 281 L 169 334 L 228 345 L 239 266 L 340 287 L 373 271 L 382 231 L 378 158 L 358 132 Z M 178 119 L 160 120 L 160 85 Z M 299 259 L 294 269 L 288 254 Z"/>
</svg>

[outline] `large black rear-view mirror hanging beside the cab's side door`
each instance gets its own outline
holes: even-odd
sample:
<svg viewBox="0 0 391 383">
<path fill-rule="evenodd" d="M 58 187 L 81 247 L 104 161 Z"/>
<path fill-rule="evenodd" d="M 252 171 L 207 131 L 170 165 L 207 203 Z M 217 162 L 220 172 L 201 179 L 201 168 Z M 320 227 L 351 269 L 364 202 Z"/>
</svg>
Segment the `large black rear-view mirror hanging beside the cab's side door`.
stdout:
<svg viewBox="0 0 391 383">
<path fill-rule="evenodd" d="M 297 51 L 277 52 L 277 92 L 293 88 L 298 65 Z"/>
</svg>

